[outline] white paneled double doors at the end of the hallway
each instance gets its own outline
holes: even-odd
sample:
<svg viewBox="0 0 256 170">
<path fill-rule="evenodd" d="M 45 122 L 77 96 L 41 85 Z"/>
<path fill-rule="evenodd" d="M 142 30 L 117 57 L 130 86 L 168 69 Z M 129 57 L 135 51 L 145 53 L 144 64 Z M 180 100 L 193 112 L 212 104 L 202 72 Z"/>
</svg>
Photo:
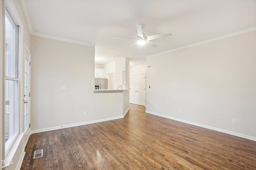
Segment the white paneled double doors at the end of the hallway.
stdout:
<svg viewBox="0 0 256 170">
<path fill-rule="evenodd" d="M 130 103 L 145 106 L 145 74 L 130 76 Z"/>
</svg>

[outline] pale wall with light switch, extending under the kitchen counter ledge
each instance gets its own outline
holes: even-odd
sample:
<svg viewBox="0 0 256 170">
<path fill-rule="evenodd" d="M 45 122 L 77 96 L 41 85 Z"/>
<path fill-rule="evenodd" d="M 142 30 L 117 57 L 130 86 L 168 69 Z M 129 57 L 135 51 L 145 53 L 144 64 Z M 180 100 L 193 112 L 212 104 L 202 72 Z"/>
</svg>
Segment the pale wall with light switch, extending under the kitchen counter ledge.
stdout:
<svg viewBox="0 0 256 170">
<path fill-rule="evenodd" d="M 123 93 L 94 93 L 94 47 L 36 36 L 31 41 L 33 133 L 123 116 Z"/>
</svg>

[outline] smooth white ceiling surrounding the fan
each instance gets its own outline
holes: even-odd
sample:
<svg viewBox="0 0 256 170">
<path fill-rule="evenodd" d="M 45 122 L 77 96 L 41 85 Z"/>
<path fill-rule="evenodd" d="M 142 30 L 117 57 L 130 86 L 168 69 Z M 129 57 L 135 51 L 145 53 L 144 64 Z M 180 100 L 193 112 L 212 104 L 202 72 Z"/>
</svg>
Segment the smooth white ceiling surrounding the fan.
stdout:
<svg viewBox="0 0 256 170">
<path fill-rule="evenodd" d="M 95 63 L 146 56 L 256 26 L 256 0 L 21 0 L 32 35 L 95 46 Z M 158 47 L 134 45 L 136 24 Z"/>
</svg>

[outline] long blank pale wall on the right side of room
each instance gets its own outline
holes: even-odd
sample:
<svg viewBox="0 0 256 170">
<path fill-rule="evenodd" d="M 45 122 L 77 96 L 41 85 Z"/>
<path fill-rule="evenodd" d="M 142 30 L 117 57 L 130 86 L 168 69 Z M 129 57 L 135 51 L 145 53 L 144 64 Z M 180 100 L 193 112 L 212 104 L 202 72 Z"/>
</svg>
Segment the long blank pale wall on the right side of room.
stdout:
<svg viewBox="0 0 256 170">
<path fill-rule="evenodd" d="M 255 140 L 255 47 L 253 31 L 147 58 L 146 111 Z"/>
</svg>

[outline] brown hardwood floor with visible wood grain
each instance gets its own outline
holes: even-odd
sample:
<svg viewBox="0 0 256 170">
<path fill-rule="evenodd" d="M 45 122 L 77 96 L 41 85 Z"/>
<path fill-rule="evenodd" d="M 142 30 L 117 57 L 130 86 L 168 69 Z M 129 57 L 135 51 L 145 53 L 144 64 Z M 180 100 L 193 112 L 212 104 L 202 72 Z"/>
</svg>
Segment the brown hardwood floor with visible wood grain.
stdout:
<svg viewBox="0 0 256 170">
<path fill-rule="evenodd" d="M 25 152 L 22 170 L 256 170 L 256 141 L 133 104 L 123 119 L 32 134 Z"/>
</svg>

